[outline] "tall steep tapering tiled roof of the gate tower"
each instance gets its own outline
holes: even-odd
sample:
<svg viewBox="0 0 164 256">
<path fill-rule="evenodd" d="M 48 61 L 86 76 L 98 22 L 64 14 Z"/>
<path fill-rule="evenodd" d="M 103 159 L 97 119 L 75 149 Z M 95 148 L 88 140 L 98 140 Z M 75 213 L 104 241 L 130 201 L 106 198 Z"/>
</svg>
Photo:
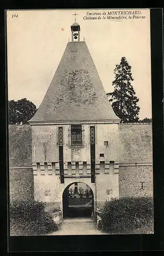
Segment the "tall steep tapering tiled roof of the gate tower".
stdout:
<svg viewBox="0 0 164 256">
<path fill-rule="evenodd" d="M 114 114 L 85 41 L 68 42 L 32 122 L 120 121 Z"/>
</svg>

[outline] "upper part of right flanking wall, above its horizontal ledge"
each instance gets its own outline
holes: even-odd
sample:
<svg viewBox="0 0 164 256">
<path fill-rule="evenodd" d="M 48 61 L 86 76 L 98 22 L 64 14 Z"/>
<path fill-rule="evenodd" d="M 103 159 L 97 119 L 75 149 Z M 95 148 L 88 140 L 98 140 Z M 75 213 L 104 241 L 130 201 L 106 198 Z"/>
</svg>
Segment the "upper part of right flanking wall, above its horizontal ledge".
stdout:
<svg viewBox="0 0 164 256">
<path fill-rule="evenodd" d="M 152 124 L 119 124 L 119 162 L 152 163 Z"/>
</svg>

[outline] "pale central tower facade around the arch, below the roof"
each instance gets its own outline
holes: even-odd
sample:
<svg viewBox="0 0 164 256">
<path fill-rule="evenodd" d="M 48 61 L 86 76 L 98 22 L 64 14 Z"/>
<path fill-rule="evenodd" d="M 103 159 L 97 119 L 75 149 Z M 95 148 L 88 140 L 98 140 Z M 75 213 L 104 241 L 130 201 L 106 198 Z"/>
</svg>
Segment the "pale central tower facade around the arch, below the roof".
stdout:
<svg viewBox="0 0 164 256">
<path fill-rule="evenodd" d="M 63 127 L 64 184 L 60 184 L 60 176 L 57 168 L 59 165 L 58 126 Z M 46 203 L 54 202 L 61 208 L 64 188 L 73 182 L 84 182 L 89 185 L 93 191 L 95 204 L 96 201 L 100 204 L 111 196 L 119 197 L 119 175 L 115 173 L 114 169 L 114 161 L 118 161 L 119 158 L 118 124 L 99 123 L 95 126 L 96 185 L 91 183 L 90 177 L 89 124 L 82 125 L 83 145 L 78 147 L 72 147 L 71 145 L 71 127 L 68 124 L 32 125 L 33 164 L 35 164 L 37 169 L 34 175 L 36 200 Z M 108 144 L 104 145 L 104 141 L 108 141 Z M 104 156 L 100 157 L 100 154 L 104 154 Z M 39 167 L 37 162 L 42 167 Z M 48 171 L 44 162 L 48 162 L 50 165 L 52 162 L 55 162 L 55 167 L 52 164 L 52 172 Z M 71 168 L 68 168 L 68 163 L 71 163 Z M 112 190 L 110 195 L 107 194 L 107 189 Z"/>
</svg>

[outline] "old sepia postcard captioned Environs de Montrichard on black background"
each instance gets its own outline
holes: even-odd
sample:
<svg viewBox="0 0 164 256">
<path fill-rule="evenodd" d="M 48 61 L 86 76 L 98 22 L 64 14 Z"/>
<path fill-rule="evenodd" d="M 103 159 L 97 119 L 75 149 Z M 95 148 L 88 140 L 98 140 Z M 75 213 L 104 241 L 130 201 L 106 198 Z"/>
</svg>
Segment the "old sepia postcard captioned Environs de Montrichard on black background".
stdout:
<svg viewBox="0 0 164 256">
<path fill-rule="evenodd" d="M 150 9 L 8 10 L 10 236 L 150 234 Z"/>
</svg>

